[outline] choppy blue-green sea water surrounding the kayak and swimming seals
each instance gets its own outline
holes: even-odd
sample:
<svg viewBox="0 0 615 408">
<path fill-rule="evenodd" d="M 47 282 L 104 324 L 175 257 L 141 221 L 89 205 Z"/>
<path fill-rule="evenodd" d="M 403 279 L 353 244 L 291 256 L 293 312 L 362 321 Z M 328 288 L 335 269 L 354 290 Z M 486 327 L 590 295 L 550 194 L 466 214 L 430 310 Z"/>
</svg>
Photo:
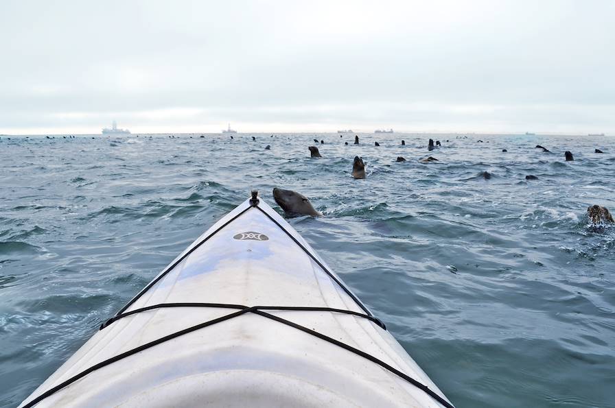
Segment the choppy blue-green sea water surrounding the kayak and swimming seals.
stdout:
<svg viewBox="0 0 615 408">
<path fill-rule="evenodd" d="M 1 406 L 250 189 L 275 206 L 283 187 L 325 213 L 290 222 L 457 407 L 615 407 L 615 228 L 583 217 L 615 210 L 612 139 L 438 135 L 423 165 L 426 135 L 199 136 L 1 138 Z"/>
</svg>

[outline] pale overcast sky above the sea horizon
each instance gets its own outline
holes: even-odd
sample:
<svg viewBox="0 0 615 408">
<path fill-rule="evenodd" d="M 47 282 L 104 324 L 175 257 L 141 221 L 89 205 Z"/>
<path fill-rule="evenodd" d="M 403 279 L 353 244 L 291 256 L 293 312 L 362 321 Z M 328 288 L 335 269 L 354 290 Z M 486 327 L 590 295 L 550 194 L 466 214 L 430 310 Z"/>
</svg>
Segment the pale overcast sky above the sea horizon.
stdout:
<svg viewBox="0 0 615 408">
<path fill-rule="evenodd" d="M 615 0 L 0 1 L 0 133 L 615 134 Z"/>
</svg>

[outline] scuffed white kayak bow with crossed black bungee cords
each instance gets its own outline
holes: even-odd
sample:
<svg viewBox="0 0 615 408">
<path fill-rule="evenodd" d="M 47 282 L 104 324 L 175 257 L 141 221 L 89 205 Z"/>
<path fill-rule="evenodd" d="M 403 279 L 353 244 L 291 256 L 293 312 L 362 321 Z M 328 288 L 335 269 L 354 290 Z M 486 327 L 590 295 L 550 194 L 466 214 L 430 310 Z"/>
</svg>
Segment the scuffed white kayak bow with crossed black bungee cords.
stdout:
<svg viewBox="0 0 615 408">
<path fill-rule="evenodd" d="M 257 192 L 20 407 L 452 407 Z"/>
</svg>

